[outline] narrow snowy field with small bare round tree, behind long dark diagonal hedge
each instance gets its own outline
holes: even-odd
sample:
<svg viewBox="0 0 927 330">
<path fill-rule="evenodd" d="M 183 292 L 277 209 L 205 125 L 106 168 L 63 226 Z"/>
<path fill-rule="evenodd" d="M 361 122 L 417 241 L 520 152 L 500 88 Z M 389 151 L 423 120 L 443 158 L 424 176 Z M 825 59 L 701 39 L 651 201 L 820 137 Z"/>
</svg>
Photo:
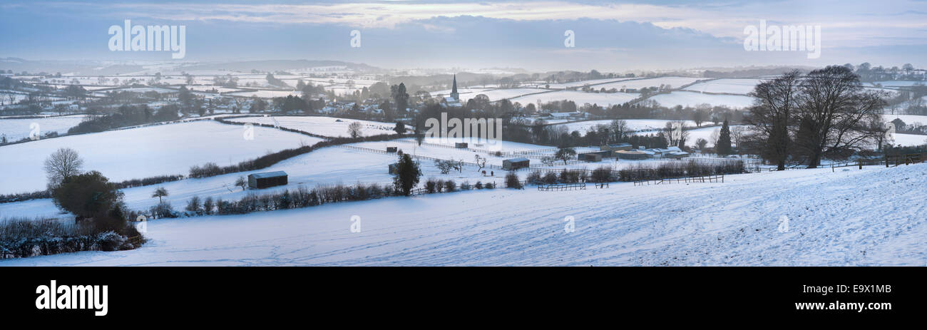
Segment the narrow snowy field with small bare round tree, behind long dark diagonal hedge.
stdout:
<svg viewBox="0 0 927 330">
<path fill-rule="evenodd" d="M 361 122 L 363 127 L 361 134 L 363 136 L 396 133 L 396 131 L 393 131 L 393 128 L 396 127 L 395 122 L 362 121 L 334 117 L 270 116 L 235 118 L 229 121 L 273 125 L 274 119 L 281 127 L 330 137 L 349 137 L 348 125 L 354 121 Z"/>
</svg>

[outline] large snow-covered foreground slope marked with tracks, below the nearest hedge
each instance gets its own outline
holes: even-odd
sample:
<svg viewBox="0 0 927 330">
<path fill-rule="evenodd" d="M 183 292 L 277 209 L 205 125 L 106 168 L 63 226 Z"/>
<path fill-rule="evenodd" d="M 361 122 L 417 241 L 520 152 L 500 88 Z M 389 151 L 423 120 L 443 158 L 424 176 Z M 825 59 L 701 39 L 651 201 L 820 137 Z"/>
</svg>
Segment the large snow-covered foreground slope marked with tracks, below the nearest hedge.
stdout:
<svg viewBox="0 0 927 330">
<path fill-rule="evenodd" d="M 923 266 L 927 165 L 724 184 L 496 189 L 148 222 L 135 250 L 2 260 L 111 265 Z M 886 192 L 892 192 L 886 197 Z M 671 200 L 672 203 L 667 203 Z M 475 207 L 478 206 L 478 207 Z M 427 211 L 423 211 L 427 210 Z M 359 216 L 362 232 L 351 233 Z M 565 233 L 564 219 L 576 230 Z M 777 230 L 781 217 L 788 231 Z"/>
</svg>

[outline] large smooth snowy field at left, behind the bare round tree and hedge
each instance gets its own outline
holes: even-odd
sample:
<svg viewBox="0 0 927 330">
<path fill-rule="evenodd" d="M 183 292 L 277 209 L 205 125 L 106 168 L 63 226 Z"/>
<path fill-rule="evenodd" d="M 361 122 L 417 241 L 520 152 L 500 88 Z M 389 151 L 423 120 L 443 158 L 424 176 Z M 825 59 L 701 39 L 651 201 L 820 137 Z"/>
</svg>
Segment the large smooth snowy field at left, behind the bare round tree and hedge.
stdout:
<svg viewBox="0 0 927 330">
<path fill-rule="evenodd" d="M 255 127 L 254 139 L 244 139 L 244 127 L 215 121 L 193 121 L 129 130 L 71 135 L 0 146 L 0 171 L 6 175 L 0 194 L 45 188 L 44 159 L 59 147 L 70 147 L 84 160 L 84 171 L 100 171 L 121 182 L 156 175 L 186 174 L 190 166 L 215 162 L 220 166 L 254 159 L 268 152 L 312 145 L 321 139 L 272 128 Z"/>
</svg>

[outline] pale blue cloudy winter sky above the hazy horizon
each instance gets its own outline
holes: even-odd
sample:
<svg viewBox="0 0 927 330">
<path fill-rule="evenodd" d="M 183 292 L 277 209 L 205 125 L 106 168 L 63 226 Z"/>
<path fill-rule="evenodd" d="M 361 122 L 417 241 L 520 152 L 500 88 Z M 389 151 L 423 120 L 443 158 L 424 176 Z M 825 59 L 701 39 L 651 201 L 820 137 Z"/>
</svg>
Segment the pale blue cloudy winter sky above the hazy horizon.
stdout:
<svg viewBox="0 0 927 330">
<path fill-rule="evenodd" d="M 337 59 L 383 68 L 667 70 L 749 65 L 927 67 L 927 1 L 4 1 L 0 57 L 170 60 L 111 52 L 124 19 L 185 25 L 183 60 Z M 748 52 L 744 28 L 821 27 L 820 57 Z M 350 32 L 361 32 L 361 47 Z M 565 31 L 575 47 L 565 47 Z"/>
</svg>

